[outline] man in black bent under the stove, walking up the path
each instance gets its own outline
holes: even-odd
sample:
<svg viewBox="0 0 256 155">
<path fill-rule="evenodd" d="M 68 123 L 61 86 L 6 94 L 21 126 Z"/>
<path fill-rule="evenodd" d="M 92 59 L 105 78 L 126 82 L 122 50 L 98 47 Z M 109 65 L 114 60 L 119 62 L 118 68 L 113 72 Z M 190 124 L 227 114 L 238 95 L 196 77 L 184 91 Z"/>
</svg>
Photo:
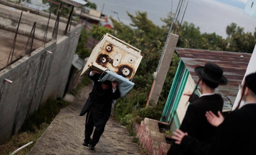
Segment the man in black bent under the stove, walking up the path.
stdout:
<svg viewBox="0 0 256 155">
<path fill-rule="evenodd" d="M 107 121 L 111 114 L 112 101 L 119 99 L 120 92 L 116 81 L 98 82 L 101 72 L 92 70 L 89 73 L 89 78 L 94 81 L 92 92 L 80 113 L 79 116 L 86 115 L 85 131 L 84 131 L 84 146 L 94 150 L 95 145 L 99 142 Z M 93 126 L 95 130 L 91 139 Z"/>
</svg>

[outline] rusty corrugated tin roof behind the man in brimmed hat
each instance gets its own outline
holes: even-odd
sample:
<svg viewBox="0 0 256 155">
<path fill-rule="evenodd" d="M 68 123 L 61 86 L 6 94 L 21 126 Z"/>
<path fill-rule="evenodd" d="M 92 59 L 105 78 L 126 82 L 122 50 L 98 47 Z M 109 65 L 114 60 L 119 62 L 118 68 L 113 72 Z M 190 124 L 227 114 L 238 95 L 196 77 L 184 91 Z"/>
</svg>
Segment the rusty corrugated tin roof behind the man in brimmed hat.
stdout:
<svg viewBox="0 0 256 155">
<path fill-rule="evenodd" d="M 175 50 L 195 83 L 199 80 L 195 73 L 195 67 L 204 66 L 206 63 L 214 63 L 223 69 L 223 75 L 228 79 L 228 85 L 219 85 L 215 92 L 223 97 L 224 106 L 222 111 L 231 111 L 239 90 L 238 85 L 242 83 L 252 54 L 186 48 L 175 48 Z"/>
</svg>

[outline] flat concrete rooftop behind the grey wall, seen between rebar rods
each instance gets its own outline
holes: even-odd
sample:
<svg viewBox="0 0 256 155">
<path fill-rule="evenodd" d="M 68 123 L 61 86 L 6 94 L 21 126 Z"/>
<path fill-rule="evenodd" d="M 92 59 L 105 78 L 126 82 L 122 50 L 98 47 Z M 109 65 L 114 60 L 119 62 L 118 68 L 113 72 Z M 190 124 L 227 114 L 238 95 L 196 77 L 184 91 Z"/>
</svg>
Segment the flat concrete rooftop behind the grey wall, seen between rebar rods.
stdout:
<svg viewBox="0 0 256 155">
<path fill-rule="evenodd" d="M 34 22 L 36 22 L 36 29 L 32 51 L 43 45 L 43 37 L 46 32 L 49 14 L 43 11 L 38 11 L 22 5 L 0 0 L 0 70 L 3 69 L 7 64 L 22 10 L 23 13 L 16 38 L 13 61 L 22 57 L 22 53 L 25 50 L 25 45 L 28 41 L 28 37 L 31 29 L 33 28 Z M 52 40 L 52 31 L 55 25 L 55 19 L 56 16 L 52 14 L 49 21 L 46 42 Z M 57 39 L 64 35 L 66 24 L 67 20 L 60 18 Z M 76 24 L 76 22 L 72 22 L 71 29 L 75 28 Z"/>
</svg>

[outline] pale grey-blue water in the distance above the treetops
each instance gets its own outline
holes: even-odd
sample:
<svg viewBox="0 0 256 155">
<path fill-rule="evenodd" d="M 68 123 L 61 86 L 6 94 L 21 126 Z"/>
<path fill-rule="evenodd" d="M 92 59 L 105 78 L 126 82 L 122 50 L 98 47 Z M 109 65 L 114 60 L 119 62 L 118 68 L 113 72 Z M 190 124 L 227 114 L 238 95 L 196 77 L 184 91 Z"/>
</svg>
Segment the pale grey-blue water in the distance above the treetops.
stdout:
<svg viewBox="0 0 256 155">
<path fill-rule="evenodd" d="M 90 0 L 97 4 L 97 10 L 101 11 L 103 3 L 105 7 L 104 14 L 113 16 L 117 19 L 117 15 L 113 11 L 118 12 L 119 18 L 125 24 L 131 23 L 126 11 L 135 14 L 135 11 L 147 11 L 148 18 L 157 25 L 163 25 L 160 17 L 167 17 L 171 11 L 171 0 Z M 178 0 L 173 0 L 173 12 L 178 5 Z M 184 6 L 185 8 L 185 6 Z M 231 22 L 237 23 L 245 28 L 245 32 L 254 32 L 256 27 L 256 19 L 245 15 L 243 9 L 233 7 L 215 0 L 189 0 L 184 20 L 194 23 L 200 27 L 201 32 L 213 33 L 227 37 L 225 32 L 226 26 Z M 183 20 L 183 21 L 184 21 Z"/>
</svg>

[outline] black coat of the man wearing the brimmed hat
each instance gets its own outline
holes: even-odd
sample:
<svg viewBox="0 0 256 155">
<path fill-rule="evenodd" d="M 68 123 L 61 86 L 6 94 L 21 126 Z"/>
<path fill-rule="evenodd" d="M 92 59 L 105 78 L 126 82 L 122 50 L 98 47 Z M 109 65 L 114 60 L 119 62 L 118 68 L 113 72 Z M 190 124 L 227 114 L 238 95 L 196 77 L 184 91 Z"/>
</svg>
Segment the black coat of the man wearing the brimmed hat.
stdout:
<svg viewBox="0 0 256 155">
<path fill-rule="evenodd" d="M 217 114 L 222 111 L 223 99 L 221 95 L 205 95 L 199 97 L 193 94 L 190 99 L 191 104 L 188 106 L 185 117 L 180 126 L 180 130 L 187 132 L 188 135 L 204 142 L 211 142 L 217 128 L 212 126 L 205 117 L 206 111 L 212 111 Z M 169 155 L 193 155 L 180 145 L 172 144 L 168 151 Z"/>
</svg>

